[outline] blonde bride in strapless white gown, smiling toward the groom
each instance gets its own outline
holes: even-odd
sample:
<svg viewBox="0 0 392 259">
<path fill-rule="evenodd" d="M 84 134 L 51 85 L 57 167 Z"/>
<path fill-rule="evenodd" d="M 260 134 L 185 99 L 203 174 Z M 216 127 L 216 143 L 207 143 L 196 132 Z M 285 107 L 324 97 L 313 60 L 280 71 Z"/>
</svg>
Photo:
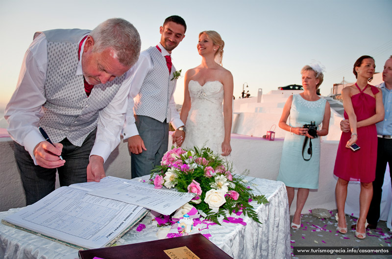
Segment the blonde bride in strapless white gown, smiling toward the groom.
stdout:
<svg viewBox="0 0 392 259">
<path fill-rule="evenodd" d="M 174 141 L 185 149 L 208 147 L 227 156 L 231 152 L 233 76 L 221 66 L 223 47 L 216 31 L 200 32 L 197 51 L 201 64 L 185 73 L 180 115 L 185 123 L 185 138 L 176 132 Z"/>
</svg>

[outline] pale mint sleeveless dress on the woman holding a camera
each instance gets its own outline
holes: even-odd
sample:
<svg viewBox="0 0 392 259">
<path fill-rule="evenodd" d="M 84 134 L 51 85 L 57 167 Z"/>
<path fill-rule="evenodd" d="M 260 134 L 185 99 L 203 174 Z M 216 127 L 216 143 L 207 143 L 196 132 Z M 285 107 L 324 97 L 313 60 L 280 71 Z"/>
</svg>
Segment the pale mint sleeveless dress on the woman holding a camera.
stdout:
<svg viewBox="0 0 392 259">
<path fill-rule="evenodd" d="M 317 101 L 307 101 L 299 94 L 293 95 L 293 103 L 290 109 L 291 127 L 302 127 L 304 124 L 316 122 L 319 126 L 324 118 L 326 100 L 320 98 Z M 319 127 L 318 127 L 319 129 Z M 277 181 L 282 181 L 286 186 L 296 188 L 318 189 L 320 171 L 320 137 L 312 139 L 313 155 L 309 161 L 302 157 L 302 146 L 305 136 L 286 133 L 283 142 L 282 158 L 280 161 Z M 304 157 L 308 159 L 307 143 Z"/>
</svg>

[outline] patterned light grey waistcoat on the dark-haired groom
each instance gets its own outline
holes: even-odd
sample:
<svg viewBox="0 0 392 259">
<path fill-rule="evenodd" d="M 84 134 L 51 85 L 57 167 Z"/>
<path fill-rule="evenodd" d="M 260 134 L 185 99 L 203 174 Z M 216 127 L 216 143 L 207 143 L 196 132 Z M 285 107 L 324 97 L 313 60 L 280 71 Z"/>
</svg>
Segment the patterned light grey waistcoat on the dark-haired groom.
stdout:
<svg viewBox="0 0 392 259">
<path fill-rule="evenodd" d="M 169 123 L 172 117 L 169 107 L 172 98 L 175 81 L 173 78 L 174 65 L 169 74 L 166 59 L 156 47 L 149 47 L 147 53 L 150 55 L 153 68 L 147 73 L 139 94 L 135 97 L 134 111 L 136 115 L 151 117 Z"/>
</svg>

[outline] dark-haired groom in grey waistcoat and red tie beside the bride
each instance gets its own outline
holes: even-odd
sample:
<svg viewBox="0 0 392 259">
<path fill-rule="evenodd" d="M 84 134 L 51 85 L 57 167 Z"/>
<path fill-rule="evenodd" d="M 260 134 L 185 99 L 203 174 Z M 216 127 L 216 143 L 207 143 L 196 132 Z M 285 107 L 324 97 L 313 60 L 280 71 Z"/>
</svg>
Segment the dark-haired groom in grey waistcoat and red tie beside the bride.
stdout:
<svg viewBox="0 0 392 259">
<path fill-rule="evenodd" d="M 132 178 L 147 175 L 160 165 L 168 150 L 169 122 L 177 129 L 173 138 L 185 137 L 184 123 L 175 108 L 175 68 L 170 54 L 184 39 L 187 25 L 179 16 L 160 26 L 161 41 L 140 54 L 131 69 L 131 90 L 123 128 L 131 154 Z"/>
</svg>

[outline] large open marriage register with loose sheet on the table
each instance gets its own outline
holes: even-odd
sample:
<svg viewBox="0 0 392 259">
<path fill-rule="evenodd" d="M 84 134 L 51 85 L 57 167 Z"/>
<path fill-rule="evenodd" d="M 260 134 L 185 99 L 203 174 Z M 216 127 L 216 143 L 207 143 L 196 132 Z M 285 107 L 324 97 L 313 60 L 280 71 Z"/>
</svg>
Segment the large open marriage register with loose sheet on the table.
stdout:
<svg viewBox="0 0 392 259">
<path fill-rule="evenodd" d="M 170 215 L 193 197 L 107 176 L 100 182 L 60 187 L 2 222 L 75 248 L 92 249 L 114 243 L 147 209 Z"/>
</svg>

